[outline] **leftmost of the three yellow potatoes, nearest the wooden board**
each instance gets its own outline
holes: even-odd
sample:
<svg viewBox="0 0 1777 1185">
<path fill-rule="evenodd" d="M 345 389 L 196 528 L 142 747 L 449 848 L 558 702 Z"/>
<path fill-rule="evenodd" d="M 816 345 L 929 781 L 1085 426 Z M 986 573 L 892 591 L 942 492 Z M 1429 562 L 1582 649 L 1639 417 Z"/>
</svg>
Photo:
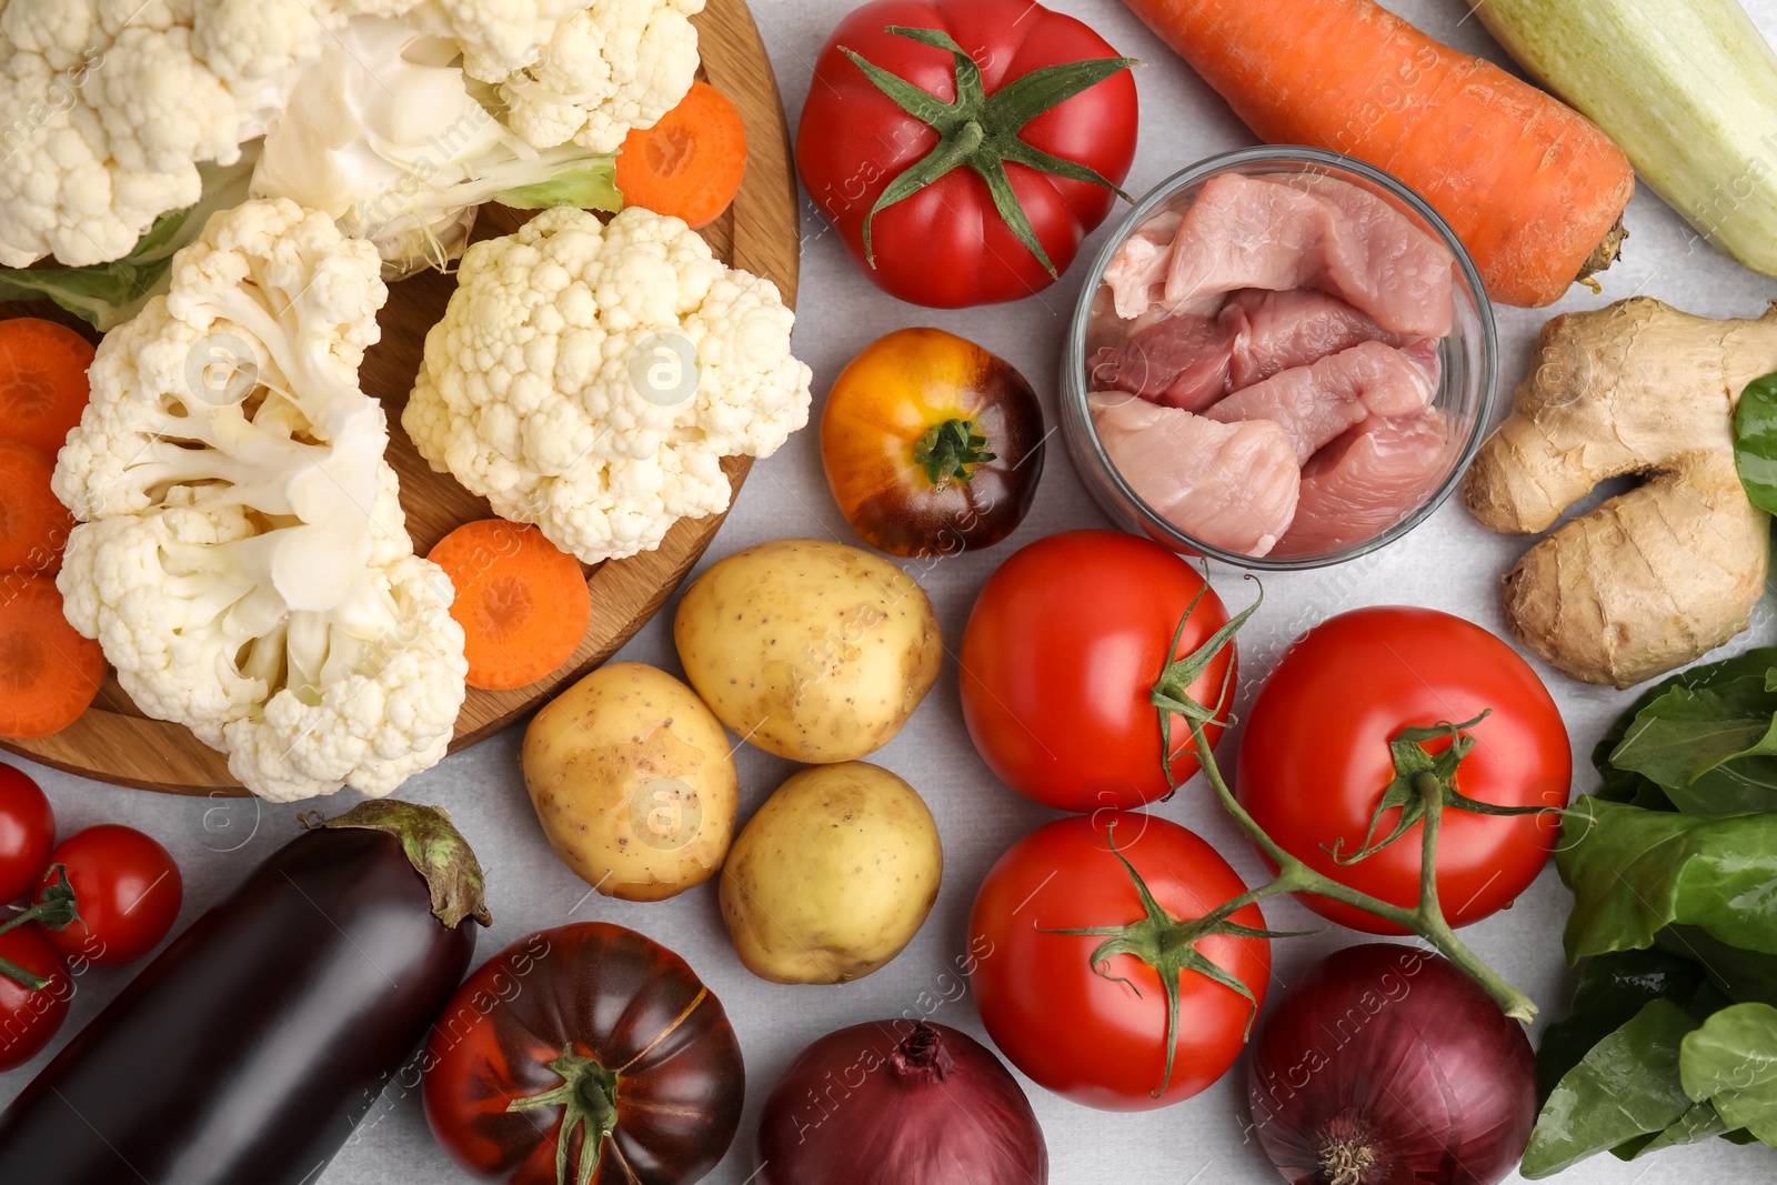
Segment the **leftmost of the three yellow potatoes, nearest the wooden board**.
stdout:
<svg viewBox="0 0 1777 1185">
<path fill-rule="evenodd" d="M 732 744 L 665 672 L 592 672 L 537 712 L 522 762 L 549 846 L 608 897 L 682 894 L 729 855 L 739 810 Z"/>
</svg>

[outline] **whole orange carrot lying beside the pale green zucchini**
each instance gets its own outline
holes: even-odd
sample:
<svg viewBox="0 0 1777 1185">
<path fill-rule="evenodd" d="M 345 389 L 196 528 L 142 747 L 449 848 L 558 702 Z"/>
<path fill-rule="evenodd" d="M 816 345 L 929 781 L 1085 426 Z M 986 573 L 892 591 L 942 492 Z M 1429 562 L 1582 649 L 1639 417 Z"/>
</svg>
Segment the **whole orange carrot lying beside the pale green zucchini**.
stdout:
<svg viewBox="0 0 1777 1185">
<path fill-rule="evenodd" d="M 1123 0 L 1271 144 L 1386 169 L 1445 217 L 1502 304 L 1610 266 L 1635 192 L 1590 121 L 1374 0 Z"/>
</svg>

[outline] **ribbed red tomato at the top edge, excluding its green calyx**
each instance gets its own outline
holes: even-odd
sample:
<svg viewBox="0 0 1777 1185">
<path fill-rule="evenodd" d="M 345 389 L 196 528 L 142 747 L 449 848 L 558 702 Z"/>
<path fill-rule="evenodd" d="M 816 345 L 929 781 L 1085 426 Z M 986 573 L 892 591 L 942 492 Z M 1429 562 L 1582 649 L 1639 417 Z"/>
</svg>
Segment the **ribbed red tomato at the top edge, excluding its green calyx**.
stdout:
<svg viewBox="0 0 1777 1185">
<path fill-rule="evenodd" d="M 828 37 L 801 108 L 796 165 L 803 185 L 883 291 L 954 309 L 1048 288 L 1054 275 L 1008 227 L 986 181 L 967 165 L 874 217 L 871 266 L 865 217 L 896 178 L 938 147 L 940 137 L 890 99 L 844 50 L 944 103 L 956 99 L 954 57 L 890 34 L 890 25 L 947 32 L 979 64 L 988 103 L 1000 87 L 1032 71 L 1114 59 L 1116 50 L 1072 16 L 1031 0 L 874 0 Z M 1116 73 L 1025 123 L 1018 139 L 1121 185 L 1136 158 L 1136 82 L 1127 69 Z M 1022 163 L 1006 163 L 1006 174 L 1036 242 L 1056 270 L 1066 272 L 1116 195 Z"/>
</svg>

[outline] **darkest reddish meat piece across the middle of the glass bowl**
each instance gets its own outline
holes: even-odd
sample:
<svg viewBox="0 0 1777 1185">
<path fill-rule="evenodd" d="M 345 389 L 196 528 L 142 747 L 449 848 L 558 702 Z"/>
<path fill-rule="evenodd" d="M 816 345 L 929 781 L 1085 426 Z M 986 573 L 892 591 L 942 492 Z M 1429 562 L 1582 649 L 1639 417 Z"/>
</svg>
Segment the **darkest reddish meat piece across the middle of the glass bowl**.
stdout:
<svg viewBox="0 0 1777 1185">
<path fill-rule="evenodd" d="M 1230 391 L 1363 341 L 1398 346 L 1409 339 L 1322 291 L 1244 288 L 1214 318 L 1169 316 L 1104 346 L 1091 378 L 1102 391 L 1201 412 Z"/>
</svg>

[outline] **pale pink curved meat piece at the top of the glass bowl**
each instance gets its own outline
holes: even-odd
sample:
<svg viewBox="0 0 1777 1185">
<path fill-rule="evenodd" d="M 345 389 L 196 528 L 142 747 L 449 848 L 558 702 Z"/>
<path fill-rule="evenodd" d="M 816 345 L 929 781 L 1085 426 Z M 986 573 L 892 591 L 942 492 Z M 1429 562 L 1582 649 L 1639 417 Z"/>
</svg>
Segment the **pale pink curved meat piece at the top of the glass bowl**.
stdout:
<svg viewBox="0 0 1777 1185">
<path fill-rule="evenodd" d="M 1452 259 L 1381 197 L 1324 176 L 1224 172 L 1185 210 L 1162 306 L 1180 311 L 1237 288 L 1320 288 L 1409 338 L 1454 320 Z"/>
</svg>

